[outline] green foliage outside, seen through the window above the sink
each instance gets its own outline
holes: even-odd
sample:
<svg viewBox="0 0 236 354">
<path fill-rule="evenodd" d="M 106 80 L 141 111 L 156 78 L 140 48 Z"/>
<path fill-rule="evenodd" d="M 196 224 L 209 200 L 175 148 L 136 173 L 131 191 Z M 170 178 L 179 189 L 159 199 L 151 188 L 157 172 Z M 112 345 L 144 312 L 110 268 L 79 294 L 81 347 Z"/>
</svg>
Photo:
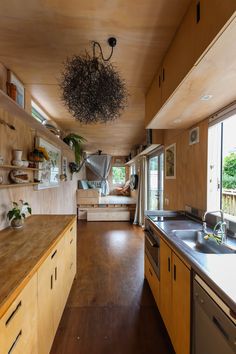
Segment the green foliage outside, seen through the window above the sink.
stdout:
<svg viewBox="0 0 236 354">
<path fill-rule="evenodd" d="M 236 189 L 236 153 L 232 152 L 224 158 L 223 188 Z"/>
</svg>

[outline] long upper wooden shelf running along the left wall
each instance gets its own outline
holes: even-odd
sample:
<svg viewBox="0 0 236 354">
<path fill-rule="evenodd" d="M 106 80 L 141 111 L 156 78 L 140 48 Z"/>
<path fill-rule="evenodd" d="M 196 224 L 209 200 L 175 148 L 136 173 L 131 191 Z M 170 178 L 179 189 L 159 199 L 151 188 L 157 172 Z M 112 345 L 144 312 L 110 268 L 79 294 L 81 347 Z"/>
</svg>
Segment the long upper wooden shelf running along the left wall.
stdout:
<svg viewBox="0 0 236 354">
<path fill-rule="evenodd" d="M 44 125 L 39 123 L 34 117 L 32 117 L 28 112 L 26 112 L 21 106 L 19 106 L 11 97 L 9 97 L 5 92 L 0 90 L 0 107 L 5 109 L 7 112 L 13 116 L 19 117 L 28 126 L 35 129 L 36 135 L 42 134 L 43 137 L 48 138 L 51 142 L 54 142 L 61 149 L 71 151 L 70 147 L 64 143 L 63 140 L 54 135 L 50 130 L 48 130 Z"/>
</svg>

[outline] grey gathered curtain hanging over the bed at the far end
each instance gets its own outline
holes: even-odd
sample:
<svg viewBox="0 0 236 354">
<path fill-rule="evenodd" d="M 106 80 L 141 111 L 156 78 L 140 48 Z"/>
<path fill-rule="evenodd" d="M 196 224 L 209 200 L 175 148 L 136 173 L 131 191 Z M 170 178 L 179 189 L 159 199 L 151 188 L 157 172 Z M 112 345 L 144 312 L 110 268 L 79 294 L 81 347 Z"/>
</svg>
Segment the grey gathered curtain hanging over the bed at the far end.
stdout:
<svg viewBox="0 0 236 354">
<path fill-rule="evenodd" d="M 111 159 L 112 157 L 110 155 L 102 154 L 94 154 L 86 158 L 86 166 L 88 166 L 90 170 L 95 173 L 102 181 L 102 195 L 109 194 L 109 183 L 107 177 L 111 170 Z"/>
</svg>

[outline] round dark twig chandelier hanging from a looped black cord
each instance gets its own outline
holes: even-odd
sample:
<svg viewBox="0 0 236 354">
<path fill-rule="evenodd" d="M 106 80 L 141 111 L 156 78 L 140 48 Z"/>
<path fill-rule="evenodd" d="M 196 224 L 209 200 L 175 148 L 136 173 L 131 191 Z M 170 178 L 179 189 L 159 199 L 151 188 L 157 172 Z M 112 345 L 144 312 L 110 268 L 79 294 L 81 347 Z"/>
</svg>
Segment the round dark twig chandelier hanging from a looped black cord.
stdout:
<svg viewBox="0 0 236 354">
<path fill-rule="evenodd" d="M 74 55 L 64 64 L 60 87 L 69 112 L 81 123 L 106 123 L 118 118 L 127 104 L 124 80 L 109 62 L 116 38 L 109 38 L 111 54 L 104 58 L 98 42 L 92 42 L 93 56 Z M 100 55 L 96 56 L 96 47 Z"/>
</svg>

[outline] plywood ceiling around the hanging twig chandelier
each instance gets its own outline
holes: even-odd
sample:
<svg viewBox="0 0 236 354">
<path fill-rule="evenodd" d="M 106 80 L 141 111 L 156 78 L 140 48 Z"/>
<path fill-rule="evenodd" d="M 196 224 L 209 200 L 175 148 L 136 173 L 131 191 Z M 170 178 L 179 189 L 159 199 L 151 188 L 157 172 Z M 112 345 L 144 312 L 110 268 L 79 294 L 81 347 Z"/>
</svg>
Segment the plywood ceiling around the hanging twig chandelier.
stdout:
<svg viewBox="0 0 236 354">
<path fill-rule="evenodd" d="M 144 97 L 190 0 L 1 0 L 0 61 L 67 132 L 87 139 L 86 150 L 126 155 L 144 140 Z M 60 101 L 58 80 L 67 56 L 106 40 L 130 93 L 122 116 L 106 125 L 81 125 Z"/>
</svg>

